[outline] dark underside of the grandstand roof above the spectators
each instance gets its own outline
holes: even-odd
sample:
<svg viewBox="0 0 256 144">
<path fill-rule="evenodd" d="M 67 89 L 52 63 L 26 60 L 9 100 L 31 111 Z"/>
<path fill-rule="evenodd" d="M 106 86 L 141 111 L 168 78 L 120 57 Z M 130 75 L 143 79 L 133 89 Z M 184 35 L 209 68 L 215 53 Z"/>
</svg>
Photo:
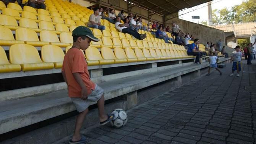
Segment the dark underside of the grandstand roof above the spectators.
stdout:
<svg viewBox="0 0 256 144">
<path fill-rule="evenodd" d="M 212 0 L 131 0 L 136 6 L 164 16 L 210 1 Z"/>
</svg>

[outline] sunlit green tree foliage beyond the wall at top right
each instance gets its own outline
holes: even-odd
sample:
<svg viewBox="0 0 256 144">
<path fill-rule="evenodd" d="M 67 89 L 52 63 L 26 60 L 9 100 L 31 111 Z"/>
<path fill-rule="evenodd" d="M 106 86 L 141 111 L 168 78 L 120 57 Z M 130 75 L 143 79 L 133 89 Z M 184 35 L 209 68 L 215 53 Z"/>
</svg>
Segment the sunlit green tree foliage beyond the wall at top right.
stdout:
<svg viewBox="0 0 256 144">
<path fill-rule="evenodd" d="M 232 6 L 230 10 L 227 8 L 212 10 L 212 23 L 214 25 L 252 21 L 256 21 L 256 0 L 243 1 L 240 5 Z"/>
</svg>

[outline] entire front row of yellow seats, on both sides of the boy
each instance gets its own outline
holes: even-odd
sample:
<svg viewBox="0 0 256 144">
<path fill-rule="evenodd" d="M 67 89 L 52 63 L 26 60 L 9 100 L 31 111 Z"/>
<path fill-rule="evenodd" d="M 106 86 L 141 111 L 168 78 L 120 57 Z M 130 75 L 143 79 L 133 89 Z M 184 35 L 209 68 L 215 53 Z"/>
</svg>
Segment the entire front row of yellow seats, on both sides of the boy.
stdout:
<svg viewBox="0 0 256 144">
<path fill-rule="evenodd" d="M 66 52 L 71 46 L 66 47 Z M 136 61 L 165 60 L 171 58 L 187 58 L 184 51 L 181 50 L 154 50 L 138 49 L 134 51 L 130 48 L 125 50 L 115 48 L 114 52 L 107 47 L 99 50 L 95 47 L 89 47 L 86 50 L 88 65 L 105 65 L 114 63 L 126 63 Z M 52 68 L 61 68 L 64 58 L 63 50 L 56 45 L 44 45 L 41 49 L 41 58 L 35 47 L 28 44 L 14 44 L 9 50 L 8 61 L 5 51 L 0 46 L 0 73 L 47 70 Z"/>
</svg>

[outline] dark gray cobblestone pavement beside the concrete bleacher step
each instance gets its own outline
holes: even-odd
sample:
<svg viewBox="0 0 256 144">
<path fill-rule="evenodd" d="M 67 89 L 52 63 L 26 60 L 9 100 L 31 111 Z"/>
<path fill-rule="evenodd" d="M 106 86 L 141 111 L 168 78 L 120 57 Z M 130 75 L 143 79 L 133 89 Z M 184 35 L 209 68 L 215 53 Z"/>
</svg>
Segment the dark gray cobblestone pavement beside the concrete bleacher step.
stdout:
<svg viewBox="0 0 256 144">
<path fill-rule="evenodd" d="M 228 76 L 231 64 L 221 70 L 129 110 L 121 129 L 87 131 L 88 144 L 256 143 L 256 65 L 240 77 Z"/>
</svg>

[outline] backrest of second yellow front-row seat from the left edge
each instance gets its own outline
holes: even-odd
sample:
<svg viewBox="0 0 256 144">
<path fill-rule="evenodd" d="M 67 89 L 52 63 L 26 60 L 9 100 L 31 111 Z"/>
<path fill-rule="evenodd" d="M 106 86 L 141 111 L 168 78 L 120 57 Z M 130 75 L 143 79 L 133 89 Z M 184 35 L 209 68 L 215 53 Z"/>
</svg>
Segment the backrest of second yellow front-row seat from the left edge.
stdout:
<svg viewBox="0 0 256 144">
<path fill-rule="evenodd" d="M 28 44 L 11 45 L 9 55 L 10 63 L 13 64 L 28 64 L 42 62 L 37 49 L 32 45 Z"/>
</svg>

